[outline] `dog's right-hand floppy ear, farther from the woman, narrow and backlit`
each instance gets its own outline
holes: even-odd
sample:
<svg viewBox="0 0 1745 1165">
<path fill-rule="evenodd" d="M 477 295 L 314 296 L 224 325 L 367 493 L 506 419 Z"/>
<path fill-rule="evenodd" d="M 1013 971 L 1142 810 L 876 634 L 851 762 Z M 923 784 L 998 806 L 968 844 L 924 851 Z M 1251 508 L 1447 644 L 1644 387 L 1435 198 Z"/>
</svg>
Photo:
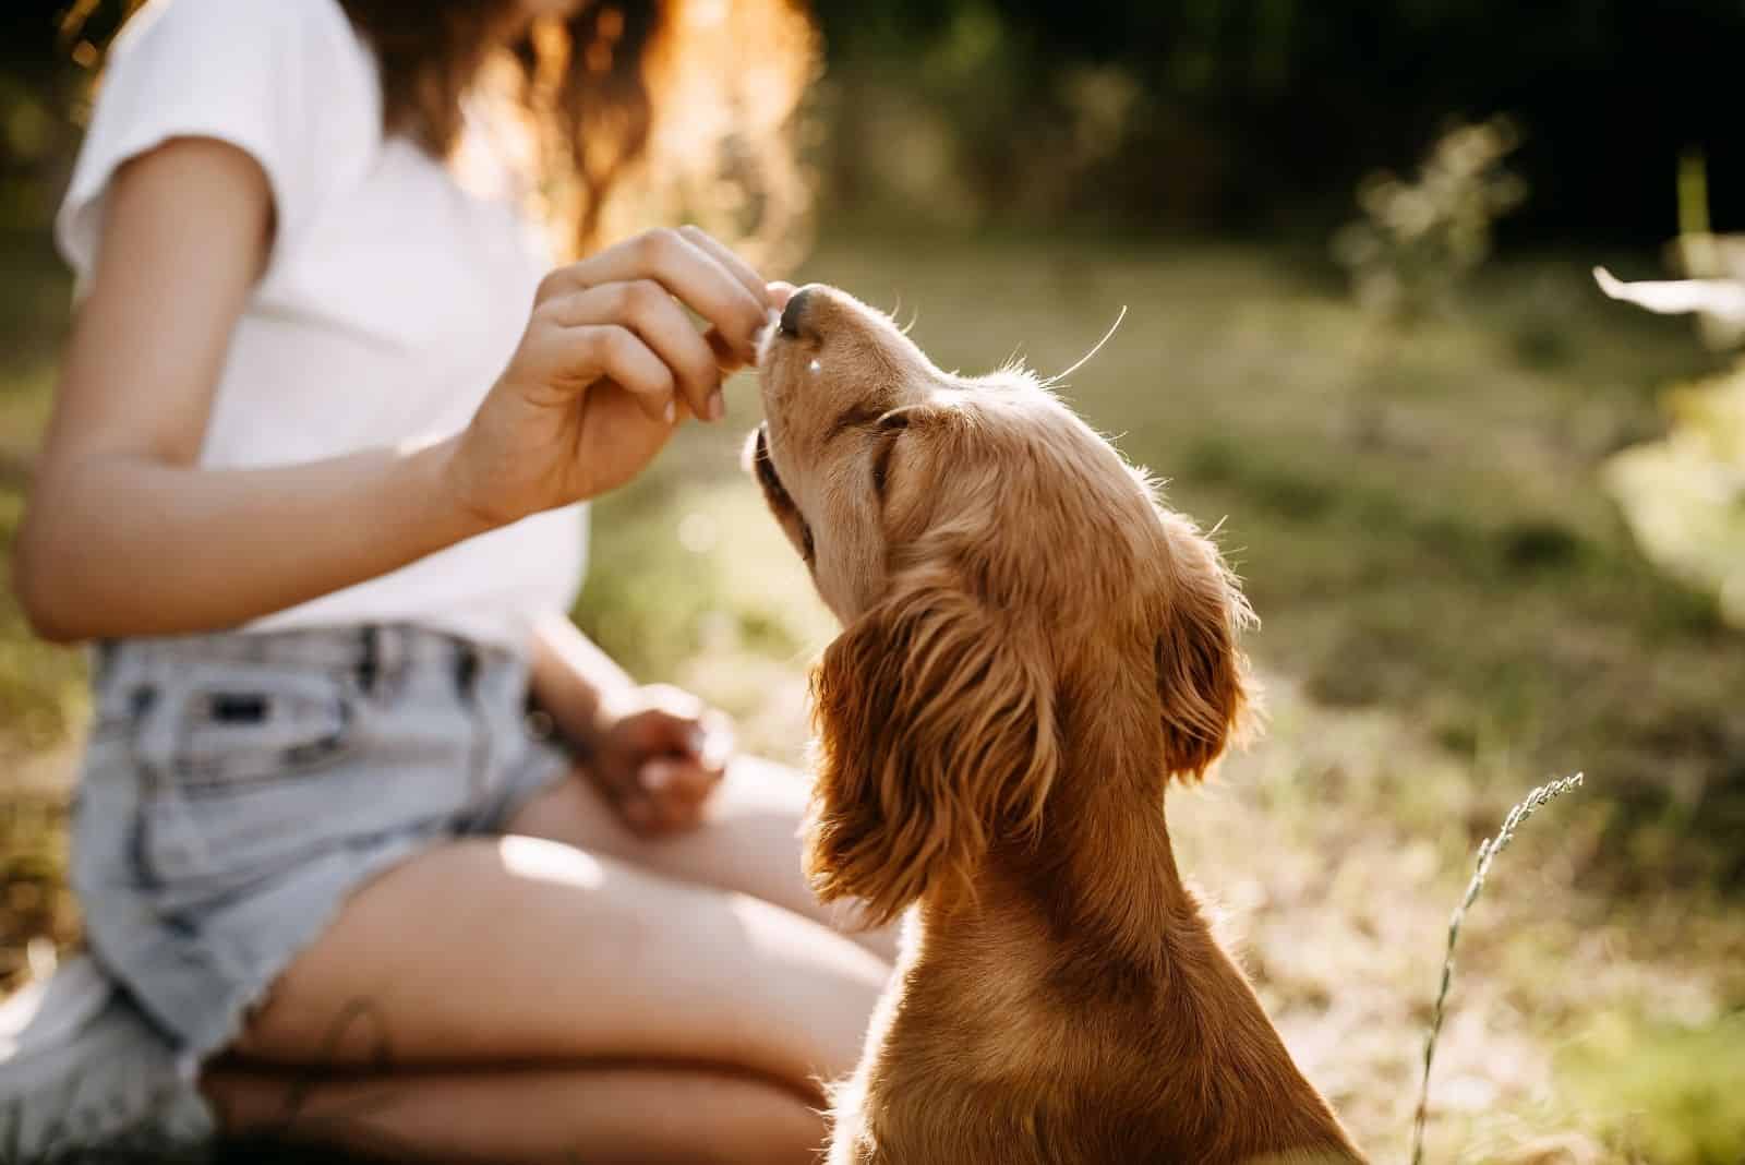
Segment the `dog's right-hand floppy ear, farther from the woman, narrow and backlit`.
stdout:
<svg viewBox="0 0 1745 1165">
<path fill-rule="evenodd" d="M 1159 520 L 1169 548 L 1153 645 L 1164 766 L 1197 780 L 1244 720 L 1249 678 L 1237 633 L 1255 616 L 1218 548 L 1180 514 L 1160 511 Z"/>
</svg>

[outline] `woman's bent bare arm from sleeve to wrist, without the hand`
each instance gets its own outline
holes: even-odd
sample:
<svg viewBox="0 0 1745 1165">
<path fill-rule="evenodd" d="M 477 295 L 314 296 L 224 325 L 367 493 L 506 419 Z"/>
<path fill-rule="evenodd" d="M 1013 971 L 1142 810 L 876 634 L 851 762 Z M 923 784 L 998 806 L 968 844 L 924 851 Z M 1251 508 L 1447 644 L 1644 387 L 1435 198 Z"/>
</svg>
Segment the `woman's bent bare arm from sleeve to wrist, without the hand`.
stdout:
<svg viewBox="0 0 1745 1165">
<path fill-rule="evenodd" d="M 17 546 L 42 635 L 230 626 L 483 528 L 440 488 L 440 445 L 190 467 L 270 241 L 267 178 L 234 146 L 173 141 L 112 183 Z"/>
</svg>

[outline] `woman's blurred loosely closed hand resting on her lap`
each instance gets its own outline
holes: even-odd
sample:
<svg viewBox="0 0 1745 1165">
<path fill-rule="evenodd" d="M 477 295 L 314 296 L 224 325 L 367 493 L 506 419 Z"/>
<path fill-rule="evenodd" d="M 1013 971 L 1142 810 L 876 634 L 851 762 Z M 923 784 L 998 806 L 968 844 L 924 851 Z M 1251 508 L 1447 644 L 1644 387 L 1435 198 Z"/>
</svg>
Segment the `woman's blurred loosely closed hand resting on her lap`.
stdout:
<svg viewBox="0 0 1745 1165">
<path fill-rule="evenodd" d="M 578 743 L 588 776 L 625 825 L 679 834 L 701 825 L 733 757 L 733 726 L 696 696 L 653 684 L 619 692 L 592 738 Z"/>
</svg>

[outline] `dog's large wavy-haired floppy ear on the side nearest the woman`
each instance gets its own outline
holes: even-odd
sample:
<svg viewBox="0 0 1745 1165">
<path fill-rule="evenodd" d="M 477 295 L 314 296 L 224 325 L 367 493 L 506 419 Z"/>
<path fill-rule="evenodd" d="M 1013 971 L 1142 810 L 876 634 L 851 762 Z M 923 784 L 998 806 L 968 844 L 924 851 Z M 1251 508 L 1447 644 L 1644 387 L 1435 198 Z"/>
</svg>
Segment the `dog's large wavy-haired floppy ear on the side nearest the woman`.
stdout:
<svg viewBox="0 0 1745 1165">
<path fill-rule="evenodd" d="M 1033 835 L 1057 767 L 1052 678 L 1033 637 L 958 586 L 907 586 L 813 673 L 817 788 L 806 872 L 886 923 L 961 886 L 995 835 Z"/>
</svg>

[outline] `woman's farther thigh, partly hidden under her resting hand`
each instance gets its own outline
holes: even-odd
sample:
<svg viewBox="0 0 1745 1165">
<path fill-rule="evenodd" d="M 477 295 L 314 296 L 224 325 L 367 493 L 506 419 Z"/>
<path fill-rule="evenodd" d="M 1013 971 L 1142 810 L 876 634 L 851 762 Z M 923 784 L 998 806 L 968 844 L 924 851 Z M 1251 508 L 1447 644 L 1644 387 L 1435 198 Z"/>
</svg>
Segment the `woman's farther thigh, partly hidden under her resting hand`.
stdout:
<svg viewBox="0 0 1745 1165">
<path fill-rule="evenodd" d="M 801 870 L 799 823 L 806 778 L 757 757 L 735 759 L 703 825 L 670 837 L 626 828 L 585 774 L 574 773 L 527 802 L 508 832 L 548 837 L 588 853 L 689 882 L 733 889 L 850 933 L 879 957 L 897 954 L 895 930 L 860 930 L 848 903 L 824 905 Z"/>
</svg>

